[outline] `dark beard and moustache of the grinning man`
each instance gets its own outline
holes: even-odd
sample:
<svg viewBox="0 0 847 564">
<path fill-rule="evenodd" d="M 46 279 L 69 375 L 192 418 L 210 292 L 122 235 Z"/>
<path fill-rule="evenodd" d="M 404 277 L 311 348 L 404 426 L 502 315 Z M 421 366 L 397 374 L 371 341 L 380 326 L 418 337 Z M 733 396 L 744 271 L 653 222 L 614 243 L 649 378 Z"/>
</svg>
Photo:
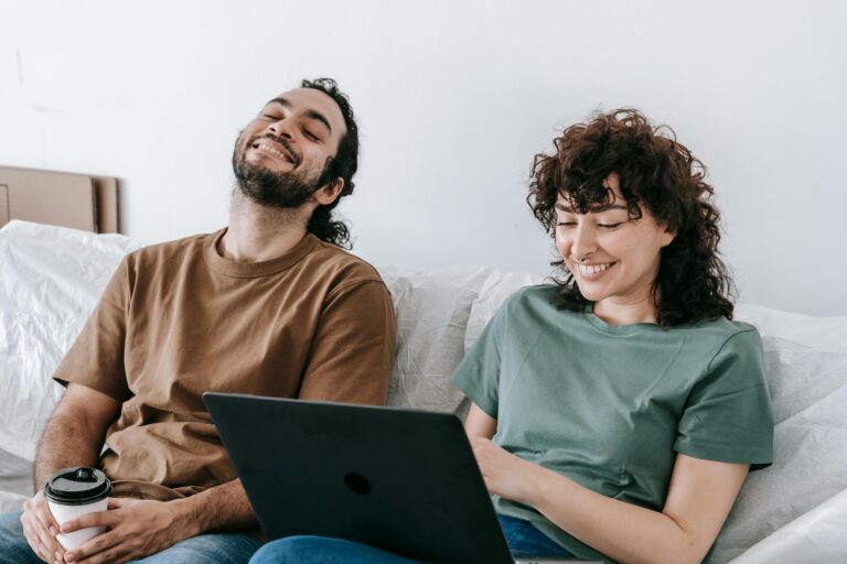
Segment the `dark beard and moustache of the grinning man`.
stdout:
<svg viewBox="0 0 847 564">
<path fill-rule="evenodd" d="M 264 166 L 247 162 L 245 153 L 261 137 L 257 135 L 244 144 L 239 151 L 239 141 L 233 151 L 233 172 L 242 193 L 261 206 L 277 208 L 297 208 L 305 204 L 312 195 L 328 182 L 326 163 L 320 173 L 310 170 L 298 172 L 274 172 Z M 279 140 L 276 140 L 279 142 Z"/>
</svg>

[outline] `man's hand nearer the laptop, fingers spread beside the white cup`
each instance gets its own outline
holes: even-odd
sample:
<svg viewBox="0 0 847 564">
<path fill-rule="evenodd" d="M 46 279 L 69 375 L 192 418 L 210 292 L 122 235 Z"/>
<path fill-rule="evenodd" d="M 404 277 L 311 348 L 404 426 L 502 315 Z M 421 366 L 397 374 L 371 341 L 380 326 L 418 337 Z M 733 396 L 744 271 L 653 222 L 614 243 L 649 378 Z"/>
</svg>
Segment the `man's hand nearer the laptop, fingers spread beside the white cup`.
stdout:
<svg viewBox="0 0 847 564">
<path fill-rule="evenodd" d="M 105 533 L 66 552 L 65 562 L 120 564 L 156 554 L 196 533 L 187 530 L 181 517 L 174 502 L 110 498 L 108 511 L 88 513 L 62 524 L 63 533 L 87 527 L 107 528 Z"/>
</svg>

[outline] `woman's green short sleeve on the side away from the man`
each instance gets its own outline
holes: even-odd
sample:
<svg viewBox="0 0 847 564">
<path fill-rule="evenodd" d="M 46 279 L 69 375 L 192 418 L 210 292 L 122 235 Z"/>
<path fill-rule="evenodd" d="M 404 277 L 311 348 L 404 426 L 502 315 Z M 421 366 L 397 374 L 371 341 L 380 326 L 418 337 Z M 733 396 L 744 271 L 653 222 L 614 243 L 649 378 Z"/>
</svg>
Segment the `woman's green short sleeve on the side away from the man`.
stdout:
<svg viewBox="0 0 847 564">
<path fill-rule="evenodd" d="M 674 449 L 753 470 L 772 464 L 773 412 L 755 329 L 732 335 L 712 357 L 688 397 Z"/>
</svg>

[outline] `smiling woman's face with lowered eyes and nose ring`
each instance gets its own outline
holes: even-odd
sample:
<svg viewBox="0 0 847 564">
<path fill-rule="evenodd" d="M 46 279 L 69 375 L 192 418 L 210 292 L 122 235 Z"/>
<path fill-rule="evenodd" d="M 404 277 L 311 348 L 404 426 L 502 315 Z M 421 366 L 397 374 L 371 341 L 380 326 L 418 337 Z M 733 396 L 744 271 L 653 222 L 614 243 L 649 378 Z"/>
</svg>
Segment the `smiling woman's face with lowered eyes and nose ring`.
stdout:
<svg viewBox="0 0 847 564">
<path fill-rule="evenodd" d="M 578 214 L 559 196 L 556 203 L 556 247 L 580 293 L 597 305 L 648 304 L 658 273 L 660 252 L 674 240 L 664 225 L 642 207 L 630 218 L 615 173 L 604 183 L 615 199 Z M 596 305 L 596 307 L 597 307 Z"/>
</svg>

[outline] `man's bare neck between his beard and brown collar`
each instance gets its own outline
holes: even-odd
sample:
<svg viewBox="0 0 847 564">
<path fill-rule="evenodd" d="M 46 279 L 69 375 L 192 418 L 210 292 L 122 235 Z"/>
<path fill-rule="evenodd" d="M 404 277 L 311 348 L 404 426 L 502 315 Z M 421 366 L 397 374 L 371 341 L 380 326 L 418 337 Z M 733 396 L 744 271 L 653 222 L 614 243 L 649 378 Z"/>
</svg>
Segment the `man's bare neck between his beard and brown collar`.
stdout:
<svg viewBox="0 0 847 564">
<path fill-rule="evenodd" d="M 229 226 L 218 252 L 239 262 L 262 262 L 286 254 L 305 236 L 308 206 L 285 209 L 261 206 L 236 188 Z"/>
</svg>

